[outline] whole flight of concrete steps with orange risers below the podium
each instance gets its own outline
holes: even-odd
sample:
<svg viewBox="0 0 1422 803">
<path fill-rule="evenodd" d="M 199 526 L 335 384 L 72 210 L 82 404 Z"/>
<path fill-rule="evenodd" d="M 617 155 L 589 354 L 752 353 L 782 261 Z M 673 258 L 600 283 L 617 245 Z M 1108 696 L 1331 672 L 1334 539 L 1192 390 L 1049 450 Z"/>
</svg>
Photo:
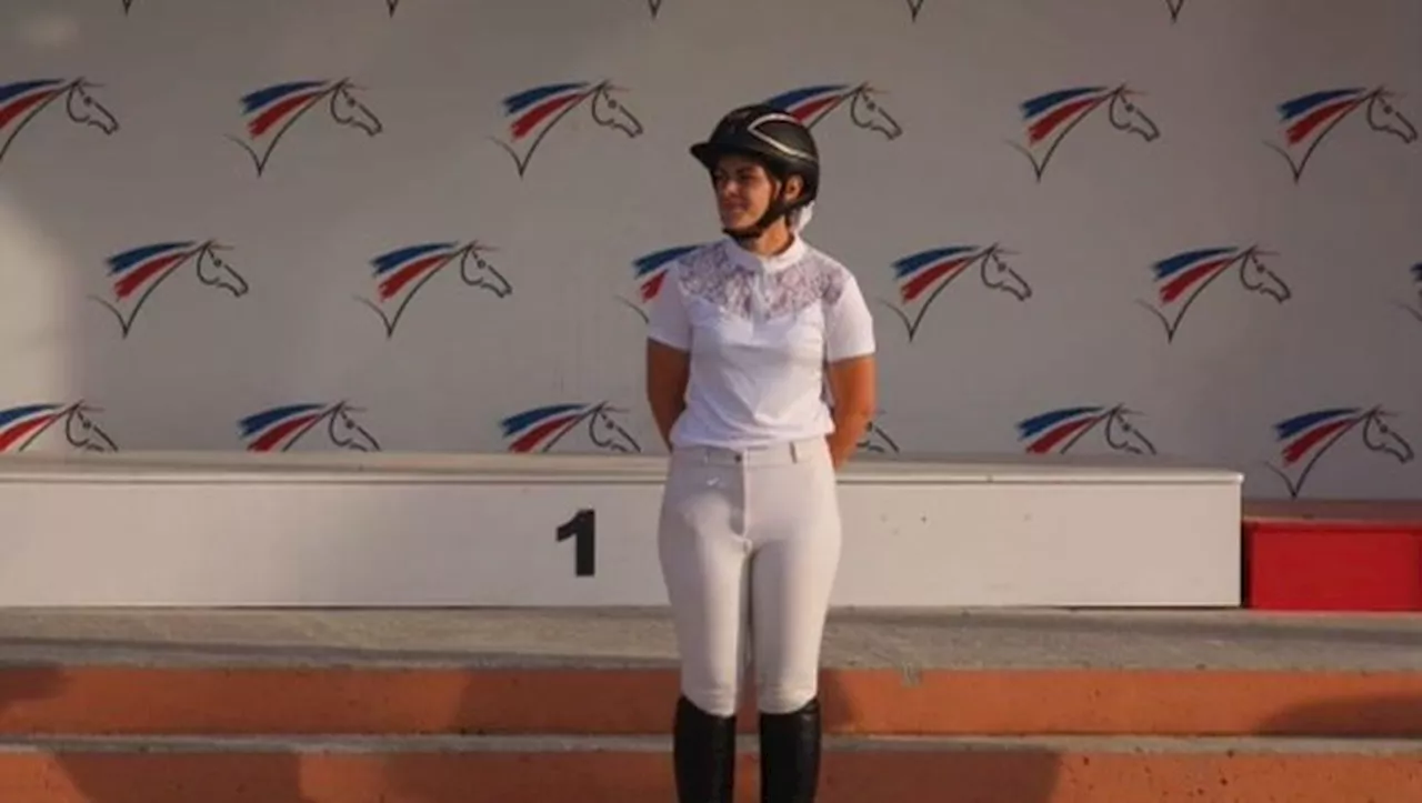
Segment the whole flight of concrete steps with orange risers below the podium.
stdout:
<svg viewBox="0 0 1422 803">
<path fill-rule="evenodd" d="M 836 611 L 818 803 L 1416 803 L 1422 617 Z M 4 803 L 673 803 L 665 611 L 0 611 Z M 758 800 L 754 688 L 737 800 Z"/>
</svg>

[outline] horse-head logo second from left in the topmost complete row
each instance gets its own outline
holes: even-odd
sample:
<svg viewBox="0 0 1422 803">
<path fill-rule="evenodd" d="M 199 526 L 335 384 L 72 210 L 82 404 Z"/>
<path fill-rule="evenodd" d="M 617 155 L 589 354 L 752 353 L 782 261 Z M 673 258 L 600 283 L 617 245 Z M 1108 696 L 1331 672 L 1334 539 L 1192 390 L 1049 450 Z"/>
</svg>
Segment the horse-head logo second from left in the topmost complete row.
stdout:
<svg viewBox="0 0 1422 803">
<path fill-rule="evenodd" d="M 247 92 L 242 97 L 242 115 L 246 121 L 243 135 L 229 134 L 228 139 L 240 145 L 252 156 L 252 165 L 262 176 L 282 139 L 299 121 L 310 119 L 307 112 L 316 108 L 324 108 L 337 125 L 375 136 L 384 126 L 357 97 L 358 91 L 363 91 L 363 87 L 350 78 L 338 78 L 334 81 L 287 81 Z"/>
</svg>

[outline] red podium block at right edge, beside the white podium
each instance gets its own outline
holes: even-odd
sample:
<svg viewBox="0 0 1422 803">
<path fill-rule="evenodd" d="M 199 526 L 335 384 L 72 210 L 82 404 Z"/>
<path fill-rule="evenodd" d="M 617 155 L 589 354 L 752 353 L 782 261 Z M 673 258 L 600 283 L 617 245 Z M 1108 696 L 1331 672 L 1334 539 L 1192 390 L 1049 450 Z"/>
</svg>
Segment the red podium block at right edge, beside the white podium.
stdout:
<svg viewBox="0 0 1422 803">
<path fill-rule="evenodd" d="M 1246 505 L 1244 605 L 1287 611 L 1422 611 L 1419 507 L 1416 503 Z"/>
</svg>

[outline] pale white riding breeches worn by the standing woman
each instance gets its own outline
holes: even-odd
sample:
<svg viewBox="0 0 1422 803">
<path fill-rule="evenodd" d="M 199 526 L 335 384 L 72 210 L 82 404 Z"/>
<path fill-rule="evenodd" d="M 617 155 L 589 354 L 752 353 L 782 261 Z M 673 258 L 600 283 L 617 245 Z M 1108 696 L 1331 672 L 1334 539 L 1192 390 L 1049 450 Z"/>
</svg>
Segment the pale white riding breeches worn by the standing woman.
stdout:
<svg viewBox="0 0 1422 803">
<path fill-rule="evenodd" d="M 785 713 L 815 696 L 840 537 L 822 438 L 673 452 L 657 547 L 687 699 L 729 716 L 748 659 L 759 711 Z"/>
</svg>

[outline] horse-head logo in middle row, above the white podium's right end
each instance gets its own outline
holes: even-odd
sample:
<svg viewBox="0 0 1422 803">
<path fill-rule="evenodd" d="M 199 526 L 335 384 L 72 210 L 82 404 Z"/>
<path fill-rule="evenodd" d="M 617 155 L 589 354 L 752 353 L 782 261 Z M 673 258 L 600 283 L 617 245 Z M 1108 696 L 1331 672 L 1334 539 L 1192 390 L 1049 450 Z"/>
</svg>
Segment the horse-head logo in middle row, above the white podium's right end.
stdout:
<svg viewBox="0 0 1422 803">
<path fill-rule="evenodd" d="M 1293 293 L 1264 263 L 1266 256 L 1274 254 L 1258 246 L 1216 246 L 1172 254 L 1150 266 L 1155 300 L 1136 303 L 1160 320 L 1167 343 L 1175 341 L 1180 324 L 1204 289 L 1224 274 L 1233 274 L 1244 291 L 1268 296 L 1283 304 Z"/>
</svg>

